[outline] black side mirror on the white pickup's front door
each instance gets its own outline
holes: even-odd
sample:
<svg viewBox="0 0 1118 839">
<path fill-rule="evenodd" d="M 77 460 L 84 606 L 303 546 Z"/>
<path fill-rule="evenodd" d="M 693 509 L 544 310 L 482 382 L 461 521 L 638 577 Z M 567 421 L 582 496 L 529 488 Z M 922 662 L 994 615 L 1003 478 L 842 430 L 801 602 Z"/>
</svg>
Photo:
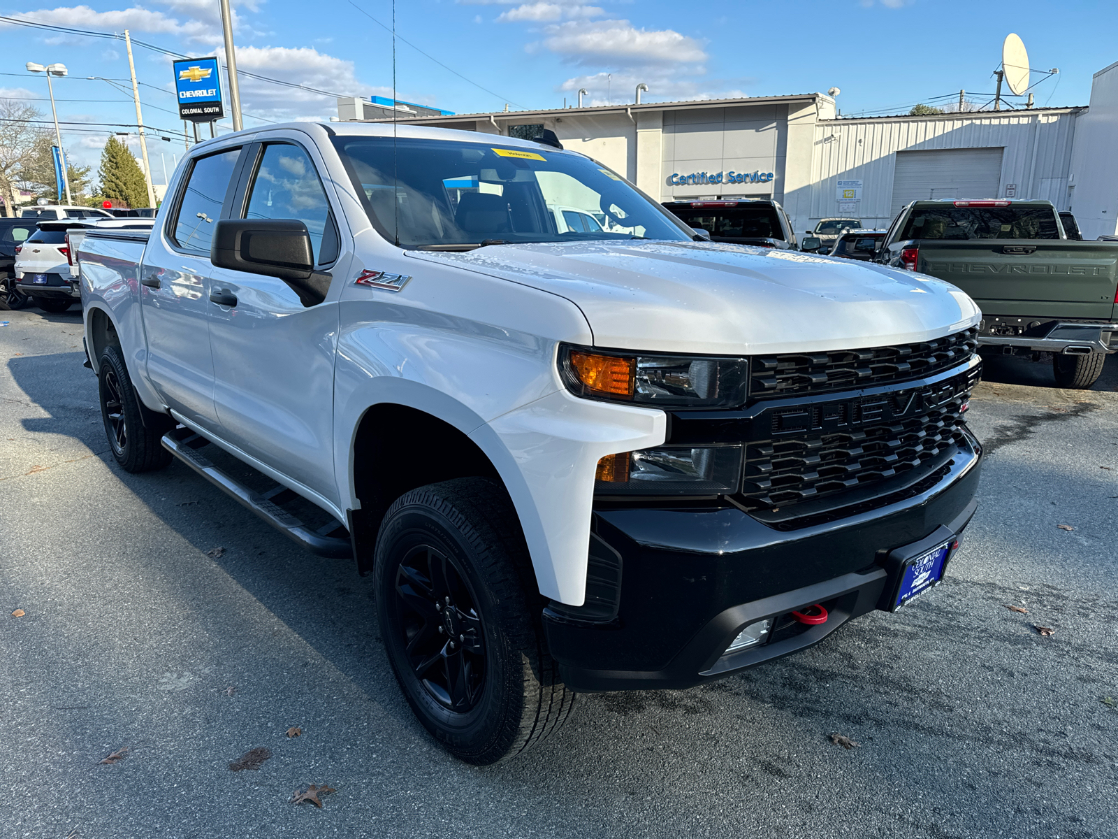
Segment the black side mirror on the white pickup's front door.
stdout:
<svg viewBox="0 0 1118 839">
<path fill-rule="evenodd" d="M 326 299 L 330 274 L 314 270 L 306 225 L 294 218 L 224 218 L 214 225 L 210 262 L 283 280 L 303 305 Z"/>
</svg>

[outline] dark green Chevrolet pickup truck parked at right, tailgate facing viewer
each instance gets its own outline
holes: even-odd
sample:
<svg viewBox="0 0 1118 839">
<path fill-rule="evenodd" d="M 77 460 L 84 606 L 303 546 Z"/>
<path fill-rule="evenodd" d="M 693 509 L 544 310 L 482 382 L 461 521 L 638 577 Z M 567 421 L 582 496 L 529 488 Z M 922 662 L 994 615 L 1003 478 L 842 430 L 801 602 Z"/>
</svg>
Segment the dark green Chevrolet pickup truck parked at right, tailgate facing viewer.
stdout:
<svg viewBox="0 0 1118 839">
<path fill-rule="evenodd" d="M 1060 387 L 1090 387 L 1118 350 L 1118 242 L 1067 238 L 1049 201 L 913 201 L 878 261 L 959 286 L 983 312 L 979 348 L 1051 352 Z"/>
</svg>

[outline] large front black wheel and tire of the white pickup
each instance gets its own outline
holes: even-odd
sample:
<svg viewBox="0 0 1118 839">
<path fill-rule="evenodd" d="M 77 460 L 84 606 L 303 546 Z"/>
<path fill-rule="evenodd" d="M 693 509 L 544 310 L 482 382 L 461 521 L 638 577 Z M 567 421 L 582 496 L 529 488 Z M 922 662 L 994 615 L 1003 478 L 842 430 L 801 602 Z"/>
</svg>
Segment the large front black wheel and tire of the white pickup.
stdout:
<svg viewBox="0 0 1118 839">
<path fill-rule="evenodd" d="M 447 648 L 456 640 L 444 643 L 442 639 L 449 639 L 452 632 L 458 632 L 456 626 L 464 625 L 455 623 L 461 611 L 454 613 L 457 618 L 447 619 L 452 606 L 442 605 L 435 585 L 437 573 L 428 574 L 428 583 L 433 600 L 445 612 L 427 612 L 430 618 L 420 618 L 420 611 L 409 605 L 418 598 L 408 600 L 400 593 L 404 588 L 411 595 L 425 591 L 421 575 L 415 588 L 400 582 L 416 579 L 413 566 L 423 566 L 424 550 L 432 572 L 435 557 L 442 554 L 448 563 L 443 578 L 449 578 L 452 572 L 458 575 L 453 609 L 461 610 L 462 603 L 472 601 L 468 614 L 477 616 L 476 621 L 467 618 L 474 629 L 465 632 L 473 631 L 473 639 L 458 635 L 467 638 L 458 647 L 458 661 L 470 661 L 466 648 L 471 644 L 484 653 L 483 663 L 479 666 L 475 658 L 474 669 L 466 671 L 470 678 L 479 669 L 483 671 L 476 698 L 467 698 L 474 704 L 466 710 L 455 710 L 449 691 L 437 694 L 433 687 L 440 673 L 451 679 L 453 652 Z M 380 527 L 373 574 L 381 637 L 404 696 L 424 727 L 453 755 L 475 765 L 508 760 L 546 738 L 570 715 L 575 694 L 560 681 L 556 662 L 546 650 L 541 625 L 544 601 L 536 590 L 520 522 L 502 487 L 482 478 L 458 478 L 401 496 Z M 432 634 L 430 621 L 440 631 L 438 637 Z M 430 644 L 428 650 L 442 645 L 442 669 L 423 670 L 427 679 L 417 675 L 420 668 L 415 658 L 426 653 L 415 652 L 419 649 L 416 639 Z M 466 701 L 458 707 L 465 708 Z"/>
</svg>

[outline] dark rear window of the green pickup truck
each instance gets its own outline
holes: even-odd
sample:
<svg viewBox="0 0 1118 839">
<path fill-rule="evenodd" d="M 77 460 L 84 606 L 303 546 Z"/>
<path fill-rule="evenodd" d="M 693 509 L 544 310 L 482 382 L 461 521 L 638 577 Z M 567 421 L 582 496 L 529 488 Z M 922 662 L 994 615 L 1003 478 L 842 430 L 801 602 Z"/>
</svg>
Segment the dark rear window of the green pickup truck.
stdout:
<svg viewBox="0 0 1118 839">
<path fill-rule="evenodd" d="M 1058 239 L 1051 207 L 915 207 L 902 239 Z"/>
</svg>

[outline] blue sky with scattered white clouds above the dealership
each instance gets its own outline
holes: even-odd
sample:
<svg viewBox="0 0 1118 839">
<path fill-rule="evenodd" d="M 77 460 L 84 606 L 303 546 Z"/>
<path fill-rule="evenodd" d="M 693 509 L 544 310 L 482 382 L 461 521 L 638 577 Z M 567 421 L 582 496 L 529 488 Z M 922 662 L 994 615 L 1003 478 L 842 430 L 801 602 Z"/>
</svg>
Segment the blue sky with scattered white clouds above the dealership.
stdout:
<svg viewBox="0 0 1118 839">
<path fill-rule="evenodd" d="M 325 94 L 391 96 L 391 0 L 233 0 L 241 70 Z M 224 55 L 217 0 L 3 6 L 6 18 L 123 34 L 174 53 Z M 1118 60 L 1118 2 L 1064 0 L 399 0 L 395 86 L 400 100 L 456 113 L 586 104 L 826 92 L 844 115 L 902 113 L 917 102 L 983 104 L 1011 31 L 1029 49 L 1039 105 L 1086 105 L 1091 75 Z M 171 57 L 134 47 L 152 175 L 182 155 Z M 96 169 L 110 132 L 135 123 L 123 36 L 95 38 L 0 20 L 0 97 L 49 119 L 42 74 L 55 81 L 70 159 Z M 111 82 L 89 79 L 101 76 Z M 982 95 L 989 94 L 989 95 Z M 246 128 L 337 115 L 323 93 L 241 77 Z M 228 119 L 219 133 L 231 130 Z M 177 133 L 172 133 L 177 132 Z M 158 139 L 169 136 L 170 141 Z M 208 136 L 208 129 L 203 129 Z M 129 139 L 134 150 L 138 143 Z"/>
</svg>

